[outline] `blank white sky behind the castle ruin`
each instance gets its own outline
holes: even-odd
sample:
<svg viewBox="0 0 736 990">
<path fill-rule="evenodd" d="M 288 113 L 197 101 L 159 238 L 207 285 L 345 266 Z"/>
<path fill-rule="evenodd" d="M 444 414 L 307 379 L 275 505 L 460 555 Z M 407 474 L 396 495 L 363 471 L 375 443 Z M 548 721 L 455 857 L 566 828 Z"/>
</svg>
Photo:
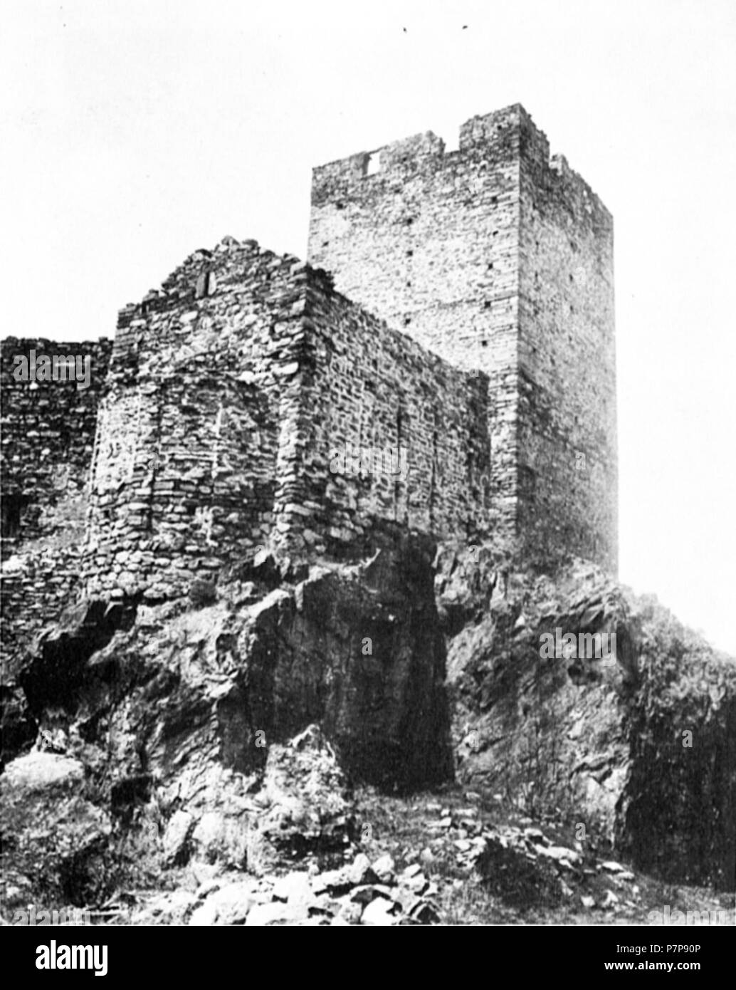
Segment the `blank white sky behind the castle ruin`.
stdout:
<svg viewBox="0 0 736 990">
<path fill-rule="evenodd" d="M 613 214 L 619 576 L 736 654 L 736 4 L 5 0 L 2 336 L 112 337 L 312 166 L 522 103 Z"/>
</svg>

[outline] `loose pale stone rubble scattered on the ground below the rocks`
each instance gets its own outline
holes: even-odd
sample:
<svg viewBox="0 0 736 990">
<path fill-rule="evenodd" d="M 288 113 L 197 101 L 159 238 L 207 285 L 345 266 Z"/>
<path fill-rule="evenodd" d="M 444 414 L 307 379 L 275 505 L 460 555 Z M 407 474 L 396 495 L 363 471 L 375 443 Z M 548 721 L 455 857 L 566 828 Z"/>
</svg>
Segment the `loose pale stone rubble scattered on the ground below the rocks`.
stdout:
<svg viewBox="0 0 736 990">
<path fill-rule="evenodd" d="M 315 861 L 310 860 L 307 868 L 276 877 L 230 882 L 227 877 L 215 878 L 203 883 L 195 898 L 184 898 L 178 910 L 190 925 L 442 924 L 436 902 L 440 885 L 421 865 L 429 861 L 426 853 L 430 851 L 432 858 L 450 855 L 463 871 L 465 880 L 451 881 L 455 888 L 480 880 L 511 904 L 550 906 L 578 896 L 588 911 L 598 908 L 611 912 L 621 907 L 620 898 L 609 888 L 597 897 L 579 889 L 576 895 L 576 887 L 571 886 L 584 883 L 588 875 L 615 881 L 628 872 L 623 867 L 620 872 L 612 871 L 611 860 L 591 860 L 594 868 L 584 867 L 582 853 L 552 841 L 538 827 L 488 825 L 479 820 L 479 834 L 458 841 L 453 836 L 462 831 L 460 823 L 467 809 L 441 810 L 448 811 L 446 817 L 453 824 L 441 838 L 433 840 L 433 850 L 408 850 L 407 858 L 417 861 L 403 868 L 397 867 L 390 853 L 371 860 L 358 851 L 342 866 L 328 870 L 318 871 Z M 436 814 L 436 808 L 431 811 Z M 604 868 L 606 864 L 608 868 Z M 626 904 L 635 906 L 634 902 Z M 160 902 L 146 910 L 148 915 L 167 913 Z M 172 913 L 169 909 L 168 914 Z"/>
</svg>

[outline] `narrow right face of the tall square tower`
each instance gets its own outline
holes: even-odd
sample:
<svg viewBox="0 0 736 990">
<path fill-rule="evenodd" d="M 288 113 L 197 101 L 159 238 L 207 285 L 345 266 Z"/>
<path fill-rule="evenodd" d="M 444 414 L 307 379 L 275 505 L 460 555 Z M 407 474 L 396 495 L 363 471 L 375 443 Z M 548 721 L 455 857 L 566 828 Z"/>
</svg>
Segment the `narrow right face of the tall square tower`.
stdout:
<svg viewBox="0 0 736 990">
<path fill-rule="evenodd" d="M 519 527 L 617 569 L 612 220 L 564 157 L 524 155 Z"/>
</svg>

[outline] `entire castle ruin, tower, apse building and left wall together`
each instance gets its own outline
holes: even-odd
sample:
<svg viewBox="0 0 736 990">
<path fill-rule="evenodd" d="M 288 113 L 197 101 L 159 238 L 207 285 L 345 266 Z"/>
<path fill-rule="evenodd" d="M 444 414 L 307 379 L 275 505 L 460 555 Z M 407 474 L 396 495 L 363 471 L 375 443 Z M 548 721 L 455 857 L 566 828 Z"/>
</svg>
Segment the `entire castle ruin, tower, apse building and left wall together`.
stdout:
<svg viewBox="0 0 736 990">
<path fill-rule="evenodd" d="M 102 357 L 83 396 L 11 380 L 14 354 L 71 346 L 3 342 L 9 642 L 38 595 L 46 618 L 163 600 L 261 548 L 349 557 L 402 530 L 499 530 L 615 572 L 612 222 L 528 114 L 473 118 L 456 151 L 428 133 L 316 168 L 309 262 L 195 251 L 121 311 L 112 351 L 84 346 Z M 366 448 L 408 471 L 335 470 Z M 72 449 L 65 488 L 46 468 Z M 42 588 L 39 507 L 82 479 L 83 540 Z"/>
</svg>

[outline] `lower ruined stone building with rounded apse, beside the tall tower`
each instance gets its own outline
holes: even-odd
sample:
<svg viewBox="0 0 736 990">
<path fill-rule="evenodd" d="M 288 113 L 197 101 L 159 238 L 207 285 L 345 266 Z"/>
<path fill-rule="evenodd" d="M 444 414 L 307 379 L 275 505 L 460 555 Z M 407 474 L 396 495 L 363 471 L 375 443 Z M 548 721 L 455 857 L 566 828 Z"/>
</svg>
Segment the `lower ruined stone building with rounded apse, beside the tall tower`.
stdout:
<svg viewBox="0 0 736 990">
<path fill-rule="evenodd" d="M 259 546 L 344 555 L 385 525 L 475 533 L 486 397 L 483 376 L 389 330 L 296 258 L 232 239 L 197 251 L 120 315 L 86 592 L 175 596 Z M 346 444 L 405 450 L 409 473 L 337 473 Z"/>
</svg>

